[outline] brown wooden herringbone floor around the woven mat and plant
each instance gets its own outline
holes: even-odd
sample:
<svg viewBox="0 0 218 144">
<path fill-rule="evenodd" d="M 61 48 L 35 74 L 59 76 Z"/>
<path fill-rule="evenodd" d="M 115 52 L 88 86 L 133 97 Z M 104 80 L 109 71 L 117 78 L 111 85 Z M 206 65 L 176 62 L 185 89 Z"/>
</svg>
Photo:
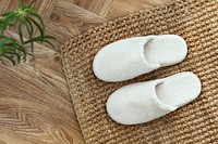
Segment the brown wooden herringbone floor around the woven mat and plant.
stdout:
<svg viewBox="0 0 218 144">
<path fill-rule="evenodd" d="M 19 0 L 0 0 L 0 14 Z M 24 0 L 29 2 L 29 0 Z M 37 44 L 16 67 L 0 66 L 0 144 L 83 144 L 59 47 L 109 19 L 173 0 L 35 0 L 56 49 Z"/>
</svg>

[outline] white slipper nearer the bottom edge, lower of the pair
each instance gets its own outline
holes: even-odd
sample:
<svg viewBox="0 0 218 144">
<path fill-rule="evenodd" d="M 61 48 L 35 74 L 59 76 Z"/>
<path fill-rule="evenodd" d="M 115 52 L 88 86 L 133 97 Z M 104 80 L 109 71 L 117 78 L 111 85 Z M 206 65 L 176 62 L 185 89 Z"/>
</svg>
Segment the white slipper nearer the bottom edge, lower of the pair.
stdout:
<svg viewBox="0 0 218 144">
<path fill-rule="evenodd" d="M 107 112 L 119 123 L 143 123 L 190 103 L 199 95 L 201 89 L 199 79 L 190 71 L 129 84 L 109 96 Z"/>
</svg>

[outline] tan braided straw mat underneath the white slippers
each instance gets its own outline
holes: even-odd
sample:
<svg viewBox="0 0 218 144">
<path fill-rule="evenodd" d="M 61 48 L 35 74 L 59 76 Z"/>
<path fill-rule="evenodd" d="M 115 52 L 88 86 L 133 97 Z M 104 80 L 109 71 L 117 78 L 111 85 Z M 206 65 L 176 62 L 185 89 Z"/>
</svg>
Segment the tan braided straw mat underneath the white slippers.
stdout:
<svg viewBox="0 0 218 144">
<path fill-rule="evenodd" d="M 102 82 L 95 77 L 92 64 L 102 47 L 150 34 L 182 36 L 189 44 L 186 58 L 124 82 Z M 218 143 L 218 0 L 180 0 L 140 11 L 74 37 L 61 49 L 63 69 L 87 144 Z M 108 96 L 122 86 L 185 70 L 195 73 L 203 84 L 201 95 L 192 103 L 137 126 L 116 123 L 107 115 Z"/>
</svg>

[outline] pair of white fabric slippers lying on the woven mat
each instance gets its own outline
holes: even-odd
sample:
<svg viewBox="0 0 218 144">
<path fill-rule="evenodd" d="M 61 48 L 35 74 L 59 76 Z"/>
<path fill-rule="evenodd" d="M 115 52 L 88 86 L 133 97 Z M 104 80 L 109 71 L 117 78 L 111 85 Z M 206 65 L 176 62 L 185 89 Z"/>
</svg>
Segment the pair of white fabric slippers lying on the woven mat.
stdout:
<svg viewBox="0 0 218 144">
<path fill-rule="evenodd" d="M 186 42 L 177 35 L 129 38 L 101 49 L 94 58 L 93 69 L 104 81 L 123 81 L 178 64 L 186 53 Z M 201 89 L 199 79 L 191 71 L 133 83 L 109 96 L 107 112 L 119 123 L 143 123 L 190 103 L 199 95 Z"/>
</svg>

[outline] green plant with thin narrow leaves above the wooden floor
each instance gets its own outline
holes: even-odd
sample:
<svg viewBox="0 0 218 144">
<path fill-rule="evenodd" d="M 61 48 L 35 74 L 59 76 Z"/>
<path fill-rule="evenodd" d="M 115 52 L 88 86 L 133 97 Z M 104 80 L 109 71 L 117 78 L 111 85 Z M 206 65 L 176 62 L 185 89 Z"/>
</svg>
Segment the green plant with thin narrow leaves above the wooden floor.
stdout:
<svg viewBox="0 0 218 144">
<path fill-rule="evenodd" d="M 45 25 L 37 13 L 31 5 L 24 6 L 20 0 L 20 5 L 16 11 L 4 13 L 0 18 L 0 61 L 4 64 L 4 60 L 9 60 L 13 65 L 16 65 L 23 60 L 25 62 L 27 53 L 26 49 L 31 45 L 34 51 L 34 42 L 46 42 L 53 47 L 49 41 L 55 39 L 51 36 L 45 35 Z M 9 27 L 19 29 L 20 39 L 15 40 L 12 37 L 5 36 L 5 30 Z M 35 27 L 35 28 L 34 28 Z M 24 31 L 27 31 L 24 39 Z M 34 34 L 39 31 L 39 36 L 34 37 Z"/>
</svg>

